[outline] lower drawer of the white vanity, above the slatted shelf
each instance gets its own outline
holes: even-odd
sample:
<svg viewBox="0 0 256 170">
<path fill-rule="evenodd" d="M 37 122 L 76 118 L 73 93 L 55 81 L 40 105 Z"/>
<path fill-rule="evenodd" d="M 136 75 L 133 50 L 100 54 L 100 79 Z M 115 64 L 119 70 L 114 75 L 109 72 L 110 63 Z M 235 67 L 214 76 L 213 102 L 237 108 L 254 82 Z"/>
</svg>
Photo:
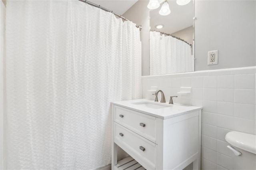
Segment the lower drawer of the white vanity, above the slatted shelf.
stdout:
<svg viewBox="0 0 256 170">
<path fill-rule="evenodd" d="M 156 144 L 114 123 L 114 142 L 146 169 L 155 169 Z"/>
</svg>

